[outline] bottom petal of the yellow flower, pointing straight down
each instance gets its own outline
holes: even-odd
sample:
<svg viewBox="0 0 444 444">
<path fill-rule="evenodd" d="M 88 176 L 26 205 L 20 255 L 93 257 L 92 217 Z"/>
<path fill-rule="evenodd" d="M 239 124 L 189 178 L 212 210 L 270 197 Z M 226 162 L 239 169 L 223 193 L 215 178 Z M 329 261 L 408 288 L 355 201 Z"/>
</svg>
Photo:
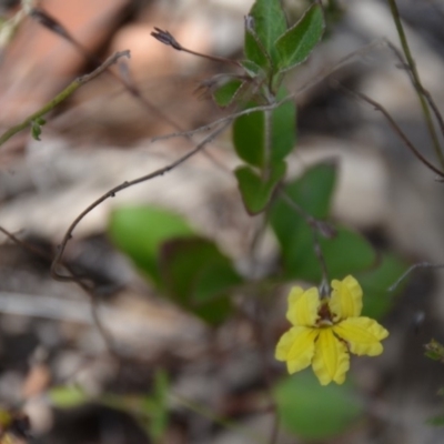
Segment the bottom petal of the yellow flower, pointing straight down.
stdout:
<svg viewBox="0 0 444 444">
<path fill-rule="evenodd" d="M 315 344 L 313 370 L 321 385 L 334 381 L 342 384 L 350 369 L 346 346 L 333 334 L 331 327 L 321 329 Z"/>
</svg>

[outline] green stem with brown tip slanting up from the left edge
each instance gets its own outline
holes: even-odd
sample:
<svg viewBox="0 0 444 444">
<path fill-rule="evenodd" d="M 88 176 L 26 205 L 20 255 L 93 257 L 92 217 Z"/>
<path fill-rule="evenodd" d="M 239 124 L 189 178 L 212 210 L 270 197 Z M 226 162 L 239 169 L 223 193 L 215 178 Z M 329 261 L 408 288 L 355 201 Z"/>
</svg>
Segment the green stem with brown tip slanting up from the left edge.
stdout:
<svg viewBox="0 0 444 444">
<path fill-rule="evenodd" d="M 18 132 L 29 128 L 32 123 L 43 118 L 43 115 L 48 114 L 52 111 L 56 107 L 58 107 L 61 102 L 67 100 L 71 94 L 73 94 L 81 85 L 89 82 L 90 80 L 94 79 L 95 77 L 100 75 L 103 71 L 105 71 L 111 64 L 114 64 L 121 57 L 130 57 L 130 51 L 121 51 L 115 52 L 111 57 L 109 57 L 99 68 L 92 71 L 89 74 L 79 77 L 74 81 L 72 81 L 62 92 L 57 94 L 52 100 L 50 100 L 47 104 L 44 104 L 40 110 L 36 111 L 33 114 L 29 115 L 23 122 L 17 124 L 16 127 L 10 128 L 0 137 L 0 145 L 16 135 Z"/>
</svg>

